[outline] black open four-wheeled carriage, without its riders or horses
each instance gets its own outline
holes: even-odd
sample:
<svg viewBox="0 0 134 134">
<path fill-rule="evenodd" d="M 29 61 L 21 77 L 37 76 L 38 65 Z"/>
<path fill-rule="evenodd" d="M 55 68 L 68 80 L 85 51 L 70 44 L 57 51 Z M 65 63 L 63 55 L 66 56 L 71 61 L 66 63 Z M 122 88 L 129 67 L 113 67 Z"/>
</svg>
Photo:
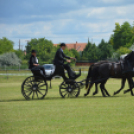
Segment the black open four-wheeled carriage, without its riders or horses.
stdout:
<svg viewBox="0 0 134 134">
<path fill-rule="evenodd" d="M 74 79 L 69 79 L 65 76 L 64 68 L 60 65 L 55 67 L 55 71 L 50 76 L 44 76 L 41 70 L 31 70 L 33 76 L 24 80 L 21 87 L 22 95 L 25 99 L 43 99 L 48 92 L 47 81 L 54 76 L 59 75 L 63 78 L 63 82 L 59 86 L 59 93 L 62 98 L 78 97 L 80 89 L 83 87 L 82 82 L 76 82 Z"/>
</svg>

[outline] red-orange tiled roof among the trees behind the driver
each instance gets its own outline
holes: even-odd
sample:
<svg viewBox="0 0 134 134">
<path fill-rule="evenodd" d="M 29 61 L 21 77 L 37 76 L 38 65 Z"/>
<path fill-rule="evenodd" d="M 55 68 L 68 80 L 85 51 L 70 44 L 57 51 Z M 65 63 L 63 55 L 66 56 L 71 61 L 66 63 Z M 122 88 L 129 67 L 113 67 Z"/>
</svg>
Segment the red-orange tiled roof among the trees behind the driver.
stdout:
<svg viewBox="0 0 134 134">
<path fill-rule="evenodd" d="M 57 46 L 58 44 L 54 44 L 54 46 Z M 86 47 L 87 43 L 67 43 L 66 46 L 68 49 L 75 49 L 78 52 L 83 51 Z"/>
</svg>

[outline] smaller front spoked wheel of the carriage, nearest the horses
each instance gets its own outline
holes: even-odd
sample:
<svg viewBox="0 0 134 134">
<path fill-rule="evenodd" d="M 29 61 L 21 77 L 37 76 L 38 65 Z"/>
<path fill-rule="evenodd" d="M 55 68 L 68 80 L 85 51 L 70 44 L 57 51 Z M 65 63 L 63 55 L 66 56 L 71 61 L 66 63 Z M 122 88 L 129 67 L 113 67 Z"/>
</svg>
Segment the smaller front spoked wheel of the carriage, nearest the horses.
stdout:
<svg viewBox="0 0 134 134">
<path fill-rule="evenodd" d="M 64 81 L 60 85 L 59 92 L 60 92 L 60 95 L 62 96 L 62 98 L 78 97 L 80 94 L 80 88 L 76 82 L 66 83 Z"/>
</svg>

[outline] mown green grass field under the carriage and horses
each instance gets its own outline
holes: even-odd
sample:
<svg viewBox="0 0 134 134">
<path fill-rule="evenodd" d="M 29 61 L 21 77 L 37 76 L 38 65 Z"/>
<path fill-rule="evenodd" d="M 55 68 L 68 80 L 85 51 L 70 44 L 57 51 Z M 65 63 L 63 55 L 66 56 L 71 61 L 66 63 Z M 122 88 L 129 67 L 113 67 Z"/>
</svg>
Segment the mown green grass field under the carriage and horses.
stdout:
<svg viewBox="0 0 134 134">
<path fill-rule="evenodd" d="M 21 94 L 25 78 L 0 77 L 1 134 L 134 133 L 134 98 L 129 93 L 104 98 L 99 92 L 93 97 L 93 87 L 88 97 L 83 97 L 82 89 L 78 98 L 62 99 L 58 87 L 62 79 L 55 79 L 45 99 L 26 101 Z M 119 87 L 120 80 L 106 84 L 111 95 Z"/>
</svg>

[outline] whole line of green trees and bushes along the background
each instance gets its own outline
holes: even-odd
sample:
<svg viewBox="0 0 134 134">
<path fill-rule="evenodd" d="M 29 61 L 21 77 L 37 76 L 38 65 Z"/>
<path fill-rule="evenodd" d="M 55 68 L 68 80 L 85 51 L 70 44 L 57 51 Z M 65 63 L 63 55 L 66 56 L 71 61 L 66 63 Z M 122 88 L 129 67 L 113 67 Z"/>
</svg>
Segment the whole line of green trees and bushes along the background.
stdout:
<svg viewBox="0 0 134 134">
<path fill-rule="evenodd" d="M 109 41 L 106 42 L 102 39 L 98 45 L 88 41 L 83 52 L 66 49 L 65 54 L 76 57 L 78 61 L 96 62 L 110 58 L 118 59 L 122 54 L 129 53 L 134 48 L 133 45 L 134 25 L 130 25 L 128 22 L 124 22 L 122 25 L 115 23 L 115 29 Z M 13 46 L 13 41 L 5 37 L 0 39 L 0 65 L 27 65 L 32 49 L 37 50 L 40 64 L 53 63 L 54 55 L 59 48 L 59 46 L 54 46 L 52 41 L 45 38 L 31 39 L 26 45 L 26 55 L 22 50 L 14 50 Z"/>
</svg>

